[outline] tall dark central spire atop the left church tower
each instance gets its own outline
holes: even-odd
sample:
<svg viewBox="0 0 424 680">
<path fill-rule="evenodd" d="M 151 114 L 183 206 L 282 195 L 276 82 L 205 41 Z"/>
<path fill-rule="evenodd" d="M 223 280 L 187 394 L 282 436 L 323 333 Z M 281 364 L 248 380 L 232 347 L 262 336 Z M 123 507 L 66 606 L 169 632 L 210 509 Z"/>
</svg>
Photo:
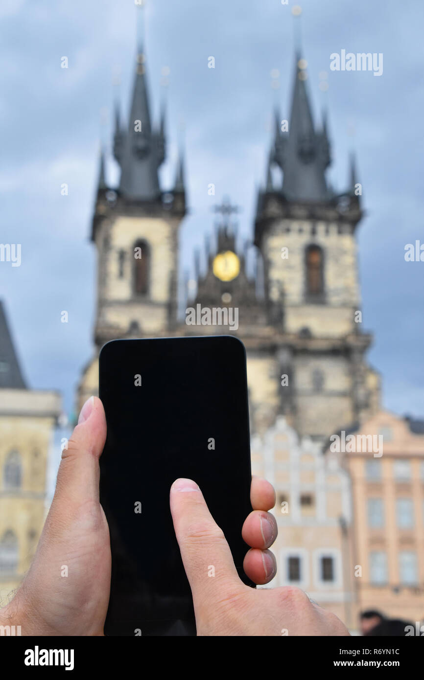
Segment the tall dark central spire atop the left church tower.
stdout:
<svg viewBox="0 0 424 680">
<path fill-rule="evenodd" d="M 164 141 L 164 140 L 163 140 Z M 146 57 L 140 48 L 133 86 L 128 130 L 120 158 L 119 191 L 130 201 L 158 201 L 161 198 L 158 168 L 164 153 L 161 133 L 154 133 L 150 122 Z"/>
</svg>

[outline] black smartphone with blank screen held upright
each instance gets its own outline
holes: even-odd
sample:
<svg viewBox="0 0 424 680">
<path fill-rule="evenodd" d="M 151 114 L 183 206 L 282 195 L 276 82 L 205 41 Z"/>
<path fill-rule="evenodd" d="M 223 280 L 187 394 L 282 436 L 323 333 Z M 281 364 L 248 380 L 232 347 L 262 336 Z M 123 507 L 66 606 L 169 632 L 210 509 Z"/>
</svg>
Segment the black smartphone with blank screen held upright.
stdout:
<svg viewBox="0 0 424 680">
<path fill-rule="evenodd" d="M 100 502 L 112 549 L 105 634 L 195 635 L 169 509 L 178 477 L 199 484 L 240 579 L 255 585 L 243 571 L 252 511 L 244 345 L 226 335 L 113 340 L 100 353 L 99 396 L 108 424 Z"/>
</svg>

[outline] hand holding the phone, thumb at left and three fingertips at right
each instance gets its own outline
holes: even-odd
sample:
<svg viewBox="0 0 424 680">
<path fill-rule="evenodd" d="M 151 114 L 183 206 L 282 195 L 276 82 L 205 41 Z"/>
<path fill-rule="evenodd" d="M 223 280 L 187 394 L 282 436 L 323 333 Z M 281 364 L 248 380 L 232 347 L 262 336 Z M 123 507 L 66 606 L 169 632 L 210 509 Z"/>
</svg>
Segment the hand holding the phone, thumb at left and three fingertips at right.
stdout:
<svg viewBox="0 0 424 680">
<path fill-rule="evenodd" d="M 103 635 L 110 593 L 110 539 L 99 503 L 99 458 L 106 437 L 103 405 L 91 397 L 63 449 L 52 505 L 31 568 L 16 596 L 0 610 L 0 624 L 21 626 L 22 635 Z M 242 529 L 246 543 L 244 568 L 255 583 L 275 573 L 267 550 L 276 522 L 266 512 L 274 506 L 274 490 L 253 478 L 255 511 Z M 267 528 L 266 520 L 271 528 Z M 63 576 L 67 568 L 67 576 Z"/>
</svg>

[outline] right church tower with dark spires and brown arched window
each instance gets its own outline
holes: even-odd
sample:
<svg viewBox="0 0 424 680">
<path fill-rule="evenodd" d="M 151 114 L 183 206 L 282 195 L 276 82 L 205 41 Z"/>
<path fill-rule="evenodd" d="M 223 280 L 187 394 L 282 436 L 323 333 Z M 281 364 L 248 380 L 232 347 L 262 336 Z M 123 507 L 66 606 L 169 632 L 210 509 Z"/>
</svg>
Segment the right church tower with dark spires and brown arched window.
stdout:
<svg viewBox="0 0 424 680">
<path fill-rule="evenodd" d="M 290 119 L 276 113 L 255 244 L 279 348 L 282 412 L 300 434 L 321 439 L 375 410 L 378 377 L 364 358 L 372 337 L 361 330 L 355 241 L 361 184 L 353 160 L 346 191 L 327 182 L 327 124 L 314 126 L 306 65 L 297 54 Z M 279 186 L 274 167 L 282 171 Z"/>
</svg>

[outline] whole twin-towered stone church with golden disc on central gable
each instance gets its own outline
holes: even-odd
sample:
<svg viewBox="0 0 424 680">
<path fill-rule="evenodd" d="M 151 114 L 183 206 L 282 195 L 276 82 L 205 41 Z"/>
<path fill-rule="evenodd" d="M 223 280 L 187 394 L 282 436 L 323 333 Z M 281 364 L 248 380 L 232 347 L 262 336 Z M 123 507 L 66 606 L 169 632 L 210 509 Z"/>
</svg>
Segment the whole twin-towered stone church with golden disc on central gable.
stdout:
<svg viewBox="0 0 424 680">
<path fill-rule="evenodd" d="M 361 185 L 353 161 L 348 190 L 337 193 L 327 182 L 327 126 L 325 120 L 319 130 L 314 125 L 305 65 L 297 55 L 291 115 L 286 121 L 276 113 L 267 180 L 257 197 L 252 231 L 262 290 L 248 274 L 246 253 L 235 248 L 232 208 L 224 202 L 216 249 L 206 253 L 206 271 L 197 259 L 197 288 L 186 303 L 218 310 L 221 322 L 193 325 L 177 313 L 184 163 L 180 158 L 173 190 L 161 190 L 165 121 L 150 120 L 146 57 L 137 55 L 125 126 L 116 110 L 118 188 L 108 187 L 103 155 L 100 160 L 91 234 L 95 352 L 80 381 L 78 408 L 97 394 L 99 350 L 111 339 L 231 333 L 246 346 L 252 434 L 264 434 L 283 415 L 300 436 L 325 441 L 378 409 L 379 378 L 366 361 L 372 337 L 361 330 L 355 241 Z M 280 186 L 273 167 L 282 171 Z"/>
</svg>

